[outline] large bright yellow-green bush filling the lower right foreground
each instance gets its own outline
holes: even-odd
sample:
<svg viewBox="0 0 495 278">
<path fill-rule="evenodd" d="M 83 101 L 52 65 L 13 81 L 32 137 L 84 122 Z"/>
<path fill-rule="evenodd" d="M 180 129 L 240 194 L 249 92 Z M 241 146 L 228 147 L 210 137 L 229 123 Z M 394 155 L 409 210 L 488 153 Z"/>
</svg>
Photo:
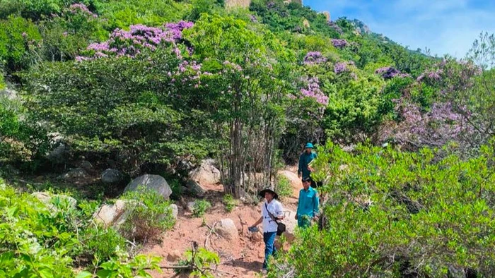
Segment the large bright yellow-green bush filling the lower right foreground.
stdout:
<svg viewBox="0 0 495 278">
<path fill-rule="evenodd" d="M 286 260 L 297 277 L 440 277 L 451 265 L 492 277 L 493 153 L 482 147 L 462 161 L 428 149 L 351 154 L 327 143 L 314 164 L 315 179 L 327 181 L 325 227 L 301 231 Z"/>
</svg>

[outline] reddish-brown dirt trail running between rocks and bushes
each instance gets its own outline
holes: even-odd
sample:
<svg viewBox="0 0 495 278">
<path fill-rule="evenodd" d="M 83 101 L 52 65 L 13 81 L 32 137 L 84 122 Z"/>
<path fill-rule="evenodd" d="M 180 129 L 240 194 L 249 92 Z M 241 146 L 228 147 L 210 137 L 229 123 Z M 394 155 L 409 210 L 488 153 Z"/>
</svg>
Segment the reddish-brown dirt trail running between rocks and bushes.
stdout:
<svg viewBox="0 0 495 278">
<path fill-rule="evenodd" d="M 215 277 L 259 277 L 258 273 L 262 269 L 264 259 L 263 241 L 253 241 L 250 238 L 248 226 L 252 225 L 260 217 L 261 203 L 256 206 L 239 204 L 232 212 L 226 212 L 221 200 L 223 198 L 223 187 L 221 185 L 206 186 L 206 200 L 211 202 L 211 209 L 202 218 L 193 217 L 190 212 L 185 210 L 177 203 L 179 214 L 175 227 L 163 234 L 161 244 L 148 244 L 144 252 L 147 254 L 158 255 L 163 258 L 161 266 L 173 265 L 175 262 L 168 262 L 167 257 L 171 253 L 183 254 L 186 250 L 191 249 L 193 241 L 199 244 L 199 247 L 206 247 L 220 255 L 221 265 L 214 275 Z M 185 200 L 186 203 L 194 200 Z M 295 210 L 297 198 L 281 199 L 284 209 Z M 239 232 L 238 241 L 227 241 L 216 234 L 211 234 L 206 243 L 206 237 L 210 234 L 209 227 L 213 226 L 220 219 L 230 218 L 235 223 Z M 206 225 L 204 225 L 206 223 Z M 205 246 L 206 243 L 206 246 Z M 163 274 L 152 272 L 153 277 L 187 277 L 174 276 L 172 270 L 164 270 Z"/>
</svg>

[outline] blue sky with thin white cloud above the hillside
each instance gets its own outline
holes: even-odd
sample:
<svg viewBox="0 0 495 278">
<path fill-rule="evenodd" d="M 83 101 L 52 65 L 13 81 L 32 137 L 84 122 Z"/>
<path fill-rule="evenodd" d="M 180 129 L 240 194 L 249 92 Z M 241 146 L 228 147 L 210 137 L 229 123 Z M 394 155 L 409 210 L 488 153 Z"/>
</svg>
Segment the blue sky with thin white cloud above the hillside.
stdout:
<svg viewBox="0 0 495 278">
<path fill-rule="evenodd" d="M 303 0 L 332 20 L 357 18 L 409 49 L 465 56 L 480 32 L 495 33 L 495 0 Z"/>
</svg>

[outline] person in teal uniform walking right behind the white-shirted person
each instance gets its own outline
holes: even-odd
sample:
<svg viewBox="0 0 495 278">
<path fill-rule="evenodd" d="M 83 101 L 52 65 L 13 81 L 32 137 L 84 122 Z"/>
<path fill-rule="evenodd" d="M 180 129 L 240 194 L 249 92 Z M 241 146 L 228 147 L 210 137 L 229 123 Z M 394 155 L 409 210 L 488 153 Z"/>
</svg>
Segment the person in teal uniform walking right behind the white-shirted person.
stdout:
<svg viewBox="0 0 495 278">
<path fill-rule="evenodd" d="M 310 226 L 311 219 L 318 220 L 318 214 L 320 212 L 318 191 L 310 185 L 311 178 L 303 178 L 303 189 L 299 191 L 299 202 L 296 212 L 297 224 L 300 227 Z"/>
</svg>

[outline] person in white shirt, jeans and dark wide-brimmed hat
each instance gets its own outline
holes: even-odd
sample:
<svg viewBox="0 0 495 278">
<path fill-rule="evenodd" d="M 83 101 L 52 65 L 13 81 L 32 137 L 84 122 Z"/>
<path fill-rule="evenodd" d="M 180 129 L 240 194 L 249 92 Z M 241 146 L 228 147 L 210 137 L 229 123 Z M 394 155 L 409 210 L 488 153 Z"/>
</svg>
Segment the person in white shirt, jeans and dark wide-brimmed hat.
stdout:
<svg viewBox="0 0 495 278">
<path fill-rule="evenodd" d="M 282 204 L 276 200 L 279 198 L 279 195 L 271 189 L 262 190 L 260 195 L 265 198 L 265 201 L 261 206 L 261 217 L 250 228 L 263 223 L 264 262 L 262 272 L 266 273 L 268 270 L 269 256 L 276 254 L 274 243 L 278 224 L 272 217 L 274 217 L 277 221 L 284 219 L 284 209 Z M 272 216 L 270 216 L 268 212 L 270 212 Z"/>
</svg>

